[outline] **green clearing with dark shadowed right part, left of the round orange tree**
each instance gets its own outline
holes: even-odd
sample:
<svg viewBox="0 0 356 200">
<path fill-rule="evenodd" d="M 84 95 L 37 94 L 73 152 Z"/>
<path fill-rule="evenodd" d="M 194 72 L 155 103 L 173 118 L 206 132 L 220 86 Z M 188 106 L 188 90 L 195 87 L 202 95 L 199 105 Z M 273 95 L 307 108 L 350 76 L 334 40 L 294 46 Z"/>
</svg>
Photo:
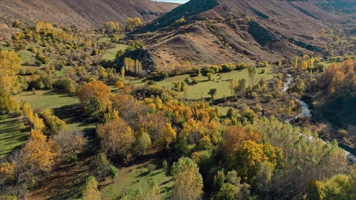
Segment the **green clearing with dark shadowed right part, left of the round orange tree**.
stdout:
<svg viewBox="0 0 356 200">
<path fill-rule="evenodd" d="M 14 96 L 14 99 L 19 103 L 21 100 L 27 101 L 33 110 L 53 109 L 54 114 L 67 123 L 69 131 L 96 126 L 95 123 L 80 119 L 82 113 L 78 98 L 70 97 L 61 90 L 37 90 L 35 95 L 32 91 L 25 91 Z"/>
</svg>

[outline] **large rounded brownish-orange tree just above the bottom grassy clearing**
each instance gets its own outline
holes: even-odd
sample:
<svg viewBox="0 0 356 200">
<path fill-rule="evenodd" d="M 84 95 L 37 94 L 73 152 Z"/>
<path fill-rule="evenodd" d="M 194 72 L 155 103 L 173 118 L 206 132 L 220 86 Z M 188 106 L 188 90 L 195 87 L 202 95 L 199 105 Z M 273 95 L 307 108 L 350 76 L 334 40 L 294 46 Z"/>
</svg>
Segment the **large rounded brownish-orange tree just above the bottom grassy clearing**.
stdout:
<svg viewBox="0 0 356 200">
<path fill-rule="evenodd" d="M 131 128 L 121 118 L 98 125 L 97 132 L 102 149 L 112 156 L 127 156 L 136 141 Z"/>
</svg>

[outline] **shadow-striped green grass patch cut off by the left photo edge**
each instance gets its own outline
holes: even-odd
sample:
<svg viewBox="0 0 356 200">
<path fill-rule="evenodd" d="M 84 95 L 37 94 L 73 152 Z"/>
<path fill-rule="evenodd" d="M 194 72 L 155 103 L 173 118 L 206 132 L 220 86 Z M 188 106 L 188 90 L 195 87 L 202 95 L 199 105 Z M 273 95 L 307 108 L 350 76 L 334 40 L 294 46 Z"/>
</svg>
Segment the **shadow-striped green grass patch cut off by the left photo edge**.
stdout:
<svg viewBox="0 0 356 200">
<path fill-rule="evenodd" d="M 0 158 L 20 148 L 26 141 L 28 129 L 21 117 L 0 115 Z"/>
</svg>

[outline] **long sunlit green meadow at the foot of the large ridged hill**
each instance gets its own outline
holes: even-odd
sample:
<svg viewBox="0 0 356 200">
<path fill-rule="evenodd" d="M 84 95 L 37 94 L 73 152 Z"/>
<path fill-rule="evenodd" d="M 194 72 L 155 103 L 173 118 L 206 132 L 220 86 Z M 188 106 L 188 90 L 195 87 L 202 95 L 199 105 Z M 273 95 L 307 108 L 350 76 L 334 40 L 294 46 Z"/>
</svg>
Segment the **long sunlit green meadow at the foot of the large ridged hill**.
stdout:
<svg viewBox="0 0 356 200">
<path fill-rule="evenodd" d="M 266 80 L 273 78 L 274 72 L 272 71 L 272 68 L 266 67 L 263 68 L 266 70 L 264 74 L 257 74 L 256 79 L 257 81 L 260 78 L 265 78 Z M 260 68 L 257 69 L 257 73 L 260 72 Z M 220 75 L 220 76 L 219 76 Z M 173 77 L 168 77 L 162 81 L 158 81 L 157 85 L 158 86 L 174 86 L 175 82 L 182 81 L 184 80 L 185 77 L 188 75 L 177 75 Z M 248 71 L 247 69 L 242 70 L 242 71 L 232 71 L 229 73 L 217 73 L 213 75 L 211 81 L 207 80 L 207 77 L 203 75 L 199 75 L 198 78 L 201 80 L 200 83 L 196 85 L 192 85 L 188 87 L 188 99 L 201 99 L 202 96 L 203 98 L 209 98 L 210 96 L 207 94 L 211 88 L 216 88 L 217 89 L 217 94 L 214 97 L 215 99 L 219 99 L 224 97 L 231 96 L 231 91 L 229 89 L 229 81 L 226 81 L 227 79 L 235 79 L 239 80 L 242 78 L 245 78 L 247 80 L 247 86 L 250 84 L 250 79 L 248 76 Z M 219 81 L 219 82 L 215 82 Z M 136 85 L 141 85 L 144 84 L 145 79 L 134 79 L 133 83 Z M 180 94 L 180 97 L 183 97 L 183 93 Z"/>
</svg>

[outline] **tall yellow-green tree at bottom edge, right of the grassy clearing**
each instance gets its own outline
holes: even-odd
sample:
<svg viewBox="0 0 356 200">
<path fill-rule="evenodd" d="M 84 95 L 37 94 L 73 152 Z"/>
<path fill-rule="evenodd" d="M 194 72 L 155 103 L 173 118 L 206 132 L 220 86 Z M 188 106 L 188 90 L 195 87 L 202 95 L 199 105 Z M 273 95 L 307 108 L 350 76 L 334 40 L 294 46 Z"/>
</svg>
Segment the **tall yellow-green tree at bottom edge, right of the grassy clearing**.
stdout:
<svg viewBox="0 0 356 200">
<path fill-rule="evenodd" d="M 197 164 L 187 157 L 179 158 L 173 163 L 173 200 L 199 200 L 203 195 L 203 178 Z"/>
</svg>

